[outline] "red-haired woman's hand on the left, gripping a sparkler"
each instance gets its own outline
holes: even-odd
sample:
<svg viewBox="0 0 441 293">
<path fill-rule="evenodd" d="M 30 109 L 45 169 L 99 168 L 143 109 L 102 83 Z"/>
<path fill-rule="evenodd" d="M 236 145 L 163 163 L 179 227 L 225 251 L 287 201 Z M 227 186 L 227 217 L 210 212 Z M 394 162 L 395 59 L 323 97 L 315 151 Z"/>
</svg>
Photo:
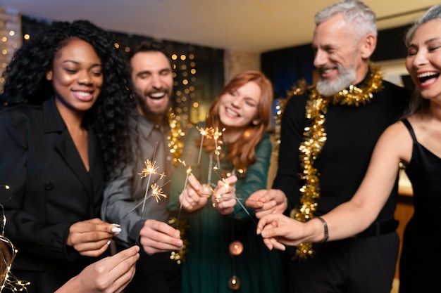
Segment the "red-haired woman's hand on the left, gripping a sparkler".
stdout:
<svg viewBox="0 0 441 293">
<path fill-rule="evenodd" d="M 196 177 L 190 174 L 184 190 L 179 195 L 179 201 L 186 211 L 196 211 L 205 206 L 210 195 L 210 186 L 201 184 Z"/>
</svg>

